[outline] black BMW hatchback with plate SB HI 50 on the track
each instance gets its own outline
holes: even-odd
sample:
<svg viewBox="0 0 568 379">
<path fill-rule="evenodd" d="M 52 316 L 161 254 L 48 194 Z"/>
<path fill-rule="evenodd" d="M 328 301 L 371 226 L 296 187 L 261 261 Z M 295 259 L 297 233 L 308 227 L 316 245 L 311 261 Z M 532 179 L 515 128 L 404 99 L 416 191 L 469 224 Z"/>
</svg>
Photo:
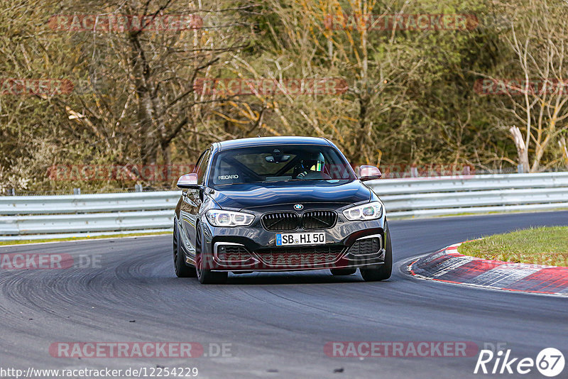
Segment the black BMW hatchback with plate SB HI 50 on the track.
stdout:
<svg viewBox="0 0 568 379">
<path fill-rule="evenodd" d="M 182 175 L 173 263 L 180 278 L 222 283 L 229 272 L 329 269 L 366 281 L 391 277 L 391 235 L 381 199 L 325 138 L 213 143 Z"/>
</svg>

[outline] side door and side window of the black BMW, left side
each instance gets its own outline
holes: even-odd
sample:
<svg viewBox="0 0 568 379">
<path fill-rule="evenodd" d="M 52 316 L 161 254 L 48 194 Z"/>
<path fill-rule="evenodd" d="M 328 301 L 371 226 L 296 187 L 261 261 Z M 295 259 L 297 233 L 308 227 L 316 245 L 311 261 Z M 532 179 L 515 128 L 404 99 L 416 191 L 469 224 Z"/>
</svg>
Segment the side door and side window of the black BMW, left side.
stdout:
<svg viewBox="0 0 568 379">
<path fill-rule="evenodd" d="M 211 150 L 205 150 L 193 172 L 197 174 L 197 184 L 203 185 L 207 167 L 209 167 L 209 159 L 211 158 Z M 187 253 L 191 258 L 195 258 L 195 226 L 197 225 L 197 216 L 202 204 L 199 189 L 184 189 L 182 192 L 182 205 L 180 207 L 180 219 L 183 234 L 185 235 L 183 241 Z"/>
</svg>

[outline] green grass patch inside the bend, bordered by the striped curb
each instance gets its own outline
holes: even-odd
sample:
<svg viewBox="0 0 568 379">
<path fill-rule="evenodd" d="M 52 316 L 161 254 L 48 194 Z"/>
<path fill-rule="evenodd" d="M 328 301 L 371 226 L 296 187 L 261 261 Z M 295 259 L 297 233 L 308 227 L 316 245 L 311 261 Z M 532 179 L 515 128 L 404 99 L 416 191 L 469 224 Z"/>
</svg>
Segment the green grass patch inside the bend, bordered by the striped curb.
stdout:
<svg viewBox="0 0 568 379">
<path fill-rule="evenodd" d="M 568 226 L 523 229 L 462 243 L 466 256 L 568 267 Z"/>
</svg>

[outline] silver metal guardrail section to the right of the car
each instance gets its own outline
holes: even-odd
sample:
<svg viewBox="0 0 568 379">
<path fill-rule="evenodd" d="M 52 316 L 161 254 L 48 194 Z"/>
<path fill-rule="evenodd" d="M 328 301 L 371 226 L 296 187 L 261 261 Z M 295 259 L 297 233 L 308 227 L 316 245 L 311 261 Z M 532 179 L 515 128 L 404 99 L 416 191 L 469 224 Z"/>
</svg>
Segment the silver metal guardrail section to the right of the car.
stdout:
<svg viewBox="0 0 568 379">
<path fill-rule="evenodd" d="M 568 208 L 568 172 L 375 180 L 390 218 Z"/>
</svg>

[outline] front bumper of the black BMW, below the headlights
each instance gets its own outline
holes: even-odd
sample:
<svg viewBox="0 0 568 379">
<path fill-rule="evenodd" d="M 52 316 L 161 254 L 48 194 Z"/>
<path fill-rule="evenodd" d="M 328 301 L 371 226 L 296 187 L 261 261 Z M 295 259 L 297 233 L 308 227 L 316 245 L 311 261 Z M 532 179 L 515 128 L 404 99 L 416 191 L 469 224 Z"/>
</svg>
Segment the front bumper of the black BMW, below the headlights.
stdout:
<svg viewBox="0 0 568 379">
<path fill-rule="evenodd" d="M 246 227 L 221 228 L 202 219 L 204 268 L 209 270 L 295 271 L 323 268 L 359 268 L 381 265 L 385 259 L 385 216 L 372 221 L 339 217 L 330 229 L 297 229 L 293 233 L 320 232 L 320 245 L 276 246 L 277 232 L 267 231 L 257 219 Z"/>
</svg>

